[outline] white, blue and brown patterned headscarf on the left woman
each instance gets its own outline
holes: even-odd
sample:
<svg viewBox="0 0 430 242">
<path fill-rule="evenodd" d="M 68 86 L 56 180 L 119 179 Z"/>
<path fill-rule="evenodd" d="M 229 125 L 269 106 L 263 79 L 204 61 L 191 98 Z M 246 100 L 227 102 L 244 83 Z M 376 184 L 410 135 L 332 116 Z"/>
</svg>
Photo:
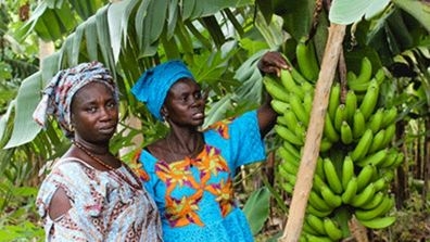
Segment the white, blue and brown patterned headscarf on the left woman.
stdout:
<svg viewBox="0 0 430 242">
<path fill-rule="evenodd" d="M 60 71 L 43 90 L 43 95 L 37 105 L 33 118 L 43 128 L 47 118 L 56 118 L 66 137 L 73 133 L 71 129 L 71 104 L 76 92 L 92 81 L 106 85 L 118 101 L 118 89 L 111 72 L 100 62 L 81 63 L 74 67 Z"/>
</svg>

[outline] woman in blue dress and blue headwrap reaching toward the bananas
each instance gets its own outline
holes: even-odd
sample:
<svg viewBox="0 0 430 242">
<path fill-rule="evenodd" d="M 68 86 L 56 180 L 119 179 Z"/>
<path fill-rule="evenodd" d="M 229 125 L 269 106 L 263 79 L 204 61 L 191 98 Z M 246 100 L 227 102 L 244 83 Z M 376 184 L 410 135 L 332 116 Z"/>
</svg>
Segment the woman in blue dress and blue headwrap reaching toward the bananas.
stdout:
<svg viewBox="0 0 430 242">
<path fill-rule="evenodd" d="M 273 75 L 288 67 L 279 52 L 267 52 L 257 66 Z M 277 116 L 270 99 L 202 131 L 205 97 L 181 61 L 148 69 L 131 92 L 169 126 L 142 150 L 137 170 L 160 209 L 164 241 L 253 241 L 232 180 L 237 167 L 265 160 L 263 138 Z"/>
</svg>

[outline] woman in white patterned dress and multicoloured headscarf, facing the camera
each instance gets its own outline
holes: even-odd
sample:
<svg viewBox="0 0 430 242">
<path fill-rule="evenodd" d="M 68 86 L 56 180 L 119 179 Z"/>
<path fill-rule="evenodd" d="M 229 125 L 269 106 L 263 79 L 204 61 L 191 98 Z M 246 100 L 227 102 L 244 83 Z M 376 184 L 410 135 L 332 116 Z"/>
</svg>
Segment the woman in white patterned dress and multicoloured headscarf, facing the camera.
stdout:
<svg viewBox="0 0 430 242">
<path fill-rule="evenodd" d="M 34 118 L 56 118 L 68 151 L 45 178 L 37 207 L 46 241 L 162 241 L 159 211 L 109 143 L 118 123 L 118 91 L 99 62 L 59 72 Z"/>
</svg>

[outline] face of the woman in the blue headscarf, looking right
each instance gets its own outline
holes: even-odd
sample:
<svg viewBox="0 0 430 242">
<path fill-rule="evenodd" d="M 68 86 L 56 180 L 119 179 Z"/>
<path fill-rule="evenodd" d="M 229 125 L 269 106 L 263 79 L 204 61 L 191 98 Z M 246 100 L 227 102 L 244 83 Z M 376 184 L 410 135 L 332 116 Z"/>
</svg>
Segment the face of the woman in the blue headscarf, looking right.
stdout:
<svg viewBox="0 0 430 242">
<path fill-rule="evenodd" d="M 176 81 L 167 92 L 162 114 L 181 126 L 201 126 L 204 122 L 205 98 L 200 86 L 190 78 Z"/>
</svg>

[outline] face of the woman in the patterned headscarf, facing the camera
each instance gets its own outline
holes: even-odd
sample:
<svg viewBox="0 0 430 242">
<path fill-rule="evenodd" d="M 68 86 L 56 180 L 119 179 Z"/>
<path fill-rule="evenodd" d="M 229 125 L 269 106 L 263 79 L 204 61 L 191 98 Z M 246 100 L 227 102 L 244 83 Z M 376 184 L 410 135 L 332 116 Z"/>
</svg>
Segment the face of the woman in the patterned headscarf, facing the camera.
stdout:
<svg viewBox="0 0 430 242">
<path fill-rule="evenodd" d="M 104 84 L 90 82 L 78 90 L 72 101 L 75 139 L 99 143 L 109 141 L 118 123 L 118 104 Z"/>
</svg>

